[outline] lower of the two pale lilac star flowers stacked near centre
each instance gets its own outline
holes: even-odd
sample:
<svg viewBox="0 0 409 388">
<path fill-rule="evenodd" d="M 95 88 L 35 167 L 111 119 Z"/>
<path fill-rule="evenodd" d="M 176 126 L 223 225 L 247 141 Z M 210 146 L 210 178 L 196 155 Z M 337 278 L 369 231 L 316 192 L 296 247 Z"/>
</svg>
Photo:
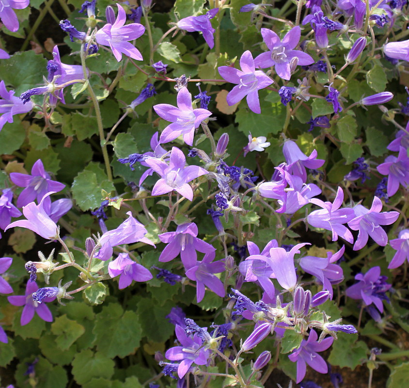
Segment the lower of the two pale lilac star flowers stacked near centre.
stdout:
<svg viewBox="0 0 409 388">
<path fill-rule="evenodd" d="M 160 175 L 152 189 L 152 195 L 167 194 L 175 190 L 180 195 L 193 200 L 193 190 L 189 182 L 195 178 L 207 174 L 207 171 L 199 166 L 185 167 L 186 158 L 183 152 L 176 147 L 172 148 L 170 164 L 158 159 L 150 158 L 145 163 Z"/>
</svg>

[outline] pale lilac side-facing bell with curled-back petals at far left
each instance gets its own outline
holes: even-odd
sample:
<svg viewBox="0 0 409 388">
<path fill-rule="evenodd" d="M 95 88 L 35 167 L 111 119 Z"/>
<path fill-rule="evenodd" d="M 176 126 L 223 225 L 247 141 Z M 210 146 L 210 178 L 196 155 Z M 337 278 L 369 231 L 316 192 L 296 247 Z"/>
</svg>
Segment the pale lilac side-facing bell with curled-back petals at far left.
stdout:
<svg viewBox="0 0 409 388">
<path fill-rule="evenodd" d="M 19 226 L 32 230 L 39 236 L 55 240 L 59 237 L 59 228 L 53 220 L 48 216 L 44 205 L 44 202 L 48 199 L 49 195 L 54 194 L 54 192 L 47 193 L 41 202 L 36 205 L 34 202 L 29 203 L 27 206 L 23 207 L 23 214 L 27 220 L 19 220 L 12 222 L 7 226 L 4 231 L 10 229 L 11 227 Z"/>
</svg>

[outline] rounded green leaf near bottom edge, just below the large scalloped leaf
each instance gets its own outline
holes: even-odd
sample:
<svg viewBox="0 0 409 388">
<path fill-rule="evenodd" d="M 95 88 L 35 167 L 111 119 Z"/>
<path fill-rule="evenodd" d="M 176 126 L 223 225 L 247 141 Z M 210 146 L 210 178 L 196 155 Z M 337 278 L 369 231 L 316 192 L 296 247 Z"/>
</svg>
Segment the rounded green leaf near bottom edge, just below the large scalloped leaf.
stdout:
<svg viewBox="0 0 409 388">
<path fill-rule="evenodd" d="M 71 365 L 75 380 L 79 385 L 82 385 L 91 381 L 94 377 L 110 379 L 114 372 L 115 363 L 102 353 L 83 350 L 75 356 Z"/>
</svg>

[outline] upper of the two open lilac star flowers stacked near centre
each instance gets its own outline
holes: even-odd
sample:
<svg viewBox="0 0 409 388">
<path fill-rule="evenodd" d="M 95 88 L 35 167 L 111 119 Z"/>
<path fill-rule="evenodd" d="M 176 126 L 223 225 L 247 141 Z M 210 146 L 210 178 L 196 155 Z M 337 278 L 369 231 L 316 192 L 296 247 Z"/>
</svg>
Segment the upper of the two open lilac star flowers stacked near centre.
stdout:
<svg viewBox="0 0 409 388">
<path fill-rule="evenodd" d="M 155 112 L 172 124 L 163 129 L 159 142 L 169 143 L 180 135 L 189 146 L 193 145 L 194 130 L 212 113 L 206 109 L 193 109 L 192 96 L 187 88 L 177 94 L 177 108 L 169 104 L 154 105 Z"/>
</svg>

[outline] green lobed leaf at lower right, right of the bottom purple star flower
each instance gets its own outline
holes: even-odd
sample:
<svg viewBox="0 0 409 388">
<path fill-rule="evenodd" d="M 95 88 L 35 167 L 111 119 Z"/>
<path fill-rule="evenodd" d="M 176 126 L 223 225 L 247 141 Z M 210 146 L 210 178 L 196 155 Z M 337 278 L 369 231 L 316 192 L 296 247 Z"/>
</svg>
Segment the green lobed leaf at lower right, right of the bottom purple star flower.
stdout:
<svg viewBox="0 0 409 388">
<path fill-rule="evenodd" d="M 365 342 L 357 341 L 357 334 L 337 333 L 338 339 L 333 342 L 328 362 L 341 368 L 355 369 L 367 359 L 368 347 Z"/>
</svg>

